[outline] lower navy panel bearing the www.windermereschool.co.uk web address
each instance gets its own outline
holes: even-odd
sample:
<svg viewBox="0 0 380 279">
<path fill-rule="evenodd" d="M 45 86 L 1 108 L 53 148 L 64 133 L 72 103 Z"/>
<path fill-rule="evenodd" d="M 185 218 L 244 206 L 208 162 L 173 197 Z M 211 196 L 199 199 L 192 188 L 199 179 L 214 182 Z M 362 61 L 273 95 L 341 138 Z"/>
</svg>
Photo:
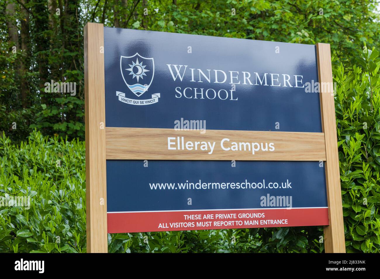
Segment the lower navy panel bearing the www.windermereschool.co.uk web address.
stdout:
<svg viewBox="0 0 380 279">
<path fill-rule="evenodd" d="M 108 160 L 109 212 L 188 210 L 191 208 L 271 208 L 260 197 L 291 197 L 280 208 L 327 207 L 325 168 L 319 162 L 239 161 L 141 161 Z M 128 175 L 120 175 L 126 173 Z M 297 173 L 292 175 L 291 173 Z M 310 179 L 315 178 L 315 179 Z M 221 185 L 222 183 L 226 185 Z M 228 183 L 228 185 L 227 185 Z M 231 188 L 231 183 L 234 186 Z M 144 202 L 142 202 L 144 201 Z M 286 199 L 285 199 L 286 201 Z"/>
</svg>

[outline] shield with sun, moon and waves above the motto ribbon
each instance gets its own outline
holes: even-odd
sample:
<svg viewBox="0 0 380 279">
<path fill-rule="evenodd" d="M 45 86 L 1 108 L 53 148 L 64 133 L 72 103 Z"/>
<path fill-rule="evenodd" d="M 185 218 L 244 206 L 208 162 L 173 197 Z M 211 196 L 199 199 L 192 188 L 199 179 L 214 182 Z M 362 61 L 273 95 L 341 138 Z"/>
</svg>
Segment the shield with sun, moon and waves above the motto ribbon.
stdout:
<svg viewBox="0 0 380 279">
<path fill-rule="evenodd" d="M 154 60 L 138 53 L 133 56 L 120 56 L 120 71 L 125 84 L 139 97 L 152 84 Z"/>
</svg>

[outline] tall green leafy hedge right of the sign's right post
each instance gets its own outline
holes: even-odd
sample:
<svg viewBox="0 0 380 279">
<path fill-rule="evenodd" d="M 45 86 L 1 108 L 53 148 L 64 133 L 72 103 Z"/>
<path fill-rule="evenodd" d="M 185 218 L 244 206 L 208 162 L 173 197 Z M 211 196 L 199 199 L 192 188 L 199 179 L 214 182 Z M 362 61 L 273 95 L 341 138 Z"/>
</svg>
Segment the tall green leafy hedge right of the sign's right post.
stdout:
<svg viewBox="0 0 380 279">
<path fill-rule="evenodd" d="M 336 117 L 347 252 L 380 249 L 379 52 L 364 44 L 353 71 L 340 65 Z"/>
</svg>

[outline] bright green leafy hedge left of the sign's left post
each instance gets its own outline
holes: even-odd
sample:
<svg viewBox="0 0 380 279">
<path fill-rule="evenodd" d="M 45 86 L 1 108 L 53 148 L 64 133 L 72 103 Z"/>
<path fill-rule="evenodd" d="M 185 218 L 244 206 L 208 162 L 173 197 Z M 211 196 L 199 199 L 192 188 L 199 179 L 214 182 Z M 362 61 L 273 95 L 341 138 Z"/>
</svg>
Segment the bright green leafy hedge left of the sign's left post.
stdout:
<svg viewBox="0 0 380 279">
<path fill-rule="evenodd" d="M 84 162 L 78 140 L 0 137 L 0 252 L 86 251 Z M 14 196 L 30 206 L 5 206 Z"/>
</svg>

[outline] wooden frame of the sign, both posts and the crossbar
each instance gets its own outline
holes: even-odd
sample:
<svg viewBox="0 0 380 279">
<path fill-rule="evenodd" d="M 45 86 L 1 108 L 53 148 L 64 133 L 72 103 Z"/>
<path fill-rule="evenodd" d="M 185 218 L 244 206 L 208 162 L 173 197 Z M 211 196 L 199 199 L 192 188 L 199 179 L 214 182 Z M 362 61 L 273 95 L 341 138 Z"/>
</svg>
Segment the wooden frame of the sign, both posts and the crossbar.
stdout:
<svg viewBox="0 0 380 279">
<path fill-rule="evenodd" d="M 322 133 L 207 130 L 206 135 L 199 135 L 199 131 L 105 127 L 103 46 L 103 24 L 87 23 L 84 28 L 87 252 L 108 250 L 106 159 L 325 161 L 330 222 L 324 229 L 325 252 L 345 252 L 334 96 L 331 87 L 326 90 L 320 86 Z M 332 84 L 329 44 L 317 44 L 317 61 L 320 84 Z M 163 150 L 154 151 L 150 147 L 162 145 L 169 135 L 185 136 L 190 140 L 203 137 L 213 141 L 230 137 L 231 140 L 252 142 L 254 138 L 254 141 L 277 142 L 280 149 L 271 155 L 265 152 L 252 155 L 249 152 L 226 154 L 219 147 L 212 156 L 185 150 L 176 150 L 170 156 L 165 156 Z M 152 139 L 156 144 L 152 143 Z M 299 143 L 301 147 L 294 148 L 294 143 Z M 126 145 L 130 148 L 125 148 Z"/>
</svg>

